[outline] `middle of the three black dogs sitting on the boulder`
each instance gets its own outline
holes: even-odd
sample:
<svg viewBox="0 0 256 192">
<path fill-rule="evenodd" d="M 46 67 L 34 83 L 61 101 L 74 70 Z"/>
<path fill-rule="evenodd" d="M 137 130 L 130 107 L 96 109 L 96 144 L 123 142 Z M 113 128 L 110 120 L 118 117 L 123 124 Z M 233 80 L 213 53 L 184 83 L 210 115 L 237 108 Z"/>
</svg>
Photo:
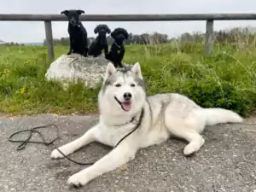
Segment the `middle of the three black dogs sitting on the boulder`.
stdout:
<svg viewBox="0 0 256 192">
<path fill-rule="evenodd" d="M 108 43 L 106 34 L 111 32 L 107 25 L 98 25 L 94 29 L 95 33 L 98 33 L 96 39 L 90 44 L 88 55 L 94 57 L 102 55 L 102 49 L 104 49 L 105 57 L 108 55 Z"/>
</svg>

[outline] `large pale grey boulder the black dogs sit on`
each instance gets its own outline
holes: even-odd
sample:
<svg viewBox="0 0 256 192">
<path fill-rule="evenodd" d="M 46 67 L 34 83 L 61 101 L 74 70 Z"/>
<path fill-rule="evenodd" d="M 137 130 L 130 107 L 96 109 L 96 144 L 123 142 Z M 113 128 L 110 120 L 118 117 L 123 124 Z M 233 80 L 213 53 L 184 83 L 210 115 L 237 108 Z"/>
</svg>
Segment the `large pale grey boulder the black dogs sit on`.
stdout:
<svg viewBox="0 0 256 192">
<path fill-rule="evenodd" d="M 106 72 L 108 60 L 103 56 L 84 57 L 79 54 L 61 55 L 52 62 L 45 73 L 48 80 L 60 81 L 65 87 L 76 83 L 78 79 L 84 80 L 84 86 L 95 88 Z"/>
</svg>

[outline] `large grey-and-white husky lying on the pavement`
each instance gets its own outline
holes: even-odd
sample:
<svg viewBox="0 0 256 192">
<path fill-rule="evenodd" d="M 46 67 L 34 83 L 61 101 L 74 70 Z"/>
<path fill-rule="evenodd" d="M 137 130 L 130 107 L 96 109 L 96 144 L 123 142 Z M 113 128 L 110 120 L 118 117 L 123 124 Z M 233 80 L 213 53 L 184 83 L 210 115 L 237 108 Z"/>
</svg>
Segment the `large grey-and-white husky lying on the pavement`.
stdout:
<svg viewBox="0 0 256 192">
<path fill-rule="evenodd" d="M 201 132 L 206 125 L 243 120 L 224 108 L 201 108 L 187 96 L 177 93 L 146 96 L 138 62 L 133 67 L 119 69 L 108 63 L 98 105 L 99 123 L 82 137 L 59 148 L 63 154 L 72 154 L 92 142 L 116 146 L 127 133 L 131 134 L 94 165 L 69 177 L 67 183 L 76 187 L 133 160 L 139 148 L 166 142 L 171 135 L 188 142 L 183 154 L 193 154 L 205 143 Z M 51 158 L 63 156 L 55 149 Z"/>
</svg>

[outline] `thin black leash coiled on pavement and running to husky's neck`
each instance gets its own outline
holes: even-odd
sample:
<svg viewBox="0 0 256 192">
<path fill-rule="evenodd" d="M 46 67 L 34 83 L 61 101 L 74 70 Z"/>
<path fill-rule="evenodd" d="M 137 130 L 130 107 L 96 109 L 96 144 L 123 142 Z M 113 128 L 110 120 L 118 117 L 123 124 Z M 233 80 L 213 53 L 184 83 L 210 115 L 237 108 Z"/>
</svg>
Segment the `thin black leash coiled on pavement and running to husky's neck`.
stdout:
<svg viewBox="0 0 256 192">
<path fill-rule="evenodd" d="M 139 117 L 139 119 L 138 119 L 137 125 L 134 127 L 134 129 L 133 129 L 132 131 L 130 131 L 128 134 L 126 134 L 125 137 L 122 137 L 122 138 L 119 140 L 119 142 L 118 142 L 113 148 L 116 148 L 116 147 L 119 145 L 119 143 L 121 143 L 126 137 L 130 136 L 131 133 L 133 133 L 134 131 L 136 131 L 138 127 L 140 127 L 140 125 L 142 124 L 142 121 L 143 121 L 143 116 L 144 116 L 144 108 L 143 108 L 143 110 L 142 110 L 142 112 L 141 112 L 141 114 L 140 114 L 140 117 Z M 46 128 L 46 127 L 49 127 L 49 126 L 54 126 L 54 127 L 56 128 L 58 137 L 55 137 L 55 139 L 53 139 L 52 141 L 47 142 L 47 141 L 45 140 L 43 134 L 40 133 L 40 132 L 38 131 L 38 129 L 43 129 L 43 128 Z M 11 139 L 12 137 L 14 137 L 15 135 L 17 135 L 17 134 L 19 134 L 19 133 L 21 133 L 21 132 L 29 132 L 30 134 L 28 135 L 28 137 L 27 137 L 25 140 L 12 140 L 12 139 Z M 33 134 L 33 133 L 38 133 L 38 135 L 41 137 L 41 139 L 43 140 L 43 142 L 30 141 L 30 139 L 32 138 L 32 134 Z M 70 159 L 69 157 L 67 157 L 67 155 L 63 154 L 63 153 L 61 152 L 61 150 L 60 150 L 58 147 L 55 146 L 55 141 L 56 141 L 57 139 L 59 139 L 59 138 L 60 138 L 60 130 L 59 130 L 58 126 L 57 126 L 57 125 L 54 125 L 54 124 L 50 124 L 50 125 L 36 126 L 36 127 L 33 127 L 32 129 L 29 129 L 29 130 L 17 131 L 17 132 L 13 133 L 13 134 L 9 137 L 9 142 L 12 142 L 12 143 L 21 143 L 21 144 L 18 146 L 18 148 L 17 148 L 16 150 L 21 150 L 21 149 L 26 148 L 26 144 L 27 144 L 27 143 L 39 143 L 39 144 L 44 144 L 45 146 L 53 145 L 53 146 L 55 147 L 55 149 L 57 149 L 65 158 L 67 158 L 67 160 L 70 160 L 70 161 L 72 161 L 72 162 L 75 163 L 75 164 L 78 164 L 78 165 L 81 165 L 81 166 L 91 166 L 91 165 L 94 164 L 94 162 L 93 162 L 93 163 L 81 163 L 81 162 L 72 160 L 72 159 Z M 113 150 L 113 148 L 112 148 L 112 150 Z"/>
</svg>

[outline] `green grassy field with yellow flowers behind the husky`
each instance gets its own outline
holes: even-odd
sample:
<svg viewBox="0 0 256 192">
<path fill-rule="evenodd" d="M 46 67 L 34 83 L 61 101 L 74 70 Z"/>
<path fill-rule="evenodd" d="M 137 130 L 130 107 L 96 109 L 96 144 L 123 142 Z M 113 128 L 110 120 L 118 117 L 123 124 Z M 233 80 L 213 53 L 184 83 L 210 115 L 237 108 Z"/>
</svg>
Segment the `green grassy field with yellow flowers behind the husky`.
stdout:
<svg viewBox="0 0 256 192">
<path fill-rule="evenodd" d="M 68 47 L 55 46 L 55 58 Z M 139 61 L 148 95 L 179 92 L 203 107 L 228 108 L 247 116 L 256 107 L 254 46 L 215 44 L 205 55 L 204 44 L 127 45 L 124 62 Z M 0 46 L 0 109 L 9 114 L 96 113 L 99 89 L 48 82 L 47 49 Z"/>
</svg>

